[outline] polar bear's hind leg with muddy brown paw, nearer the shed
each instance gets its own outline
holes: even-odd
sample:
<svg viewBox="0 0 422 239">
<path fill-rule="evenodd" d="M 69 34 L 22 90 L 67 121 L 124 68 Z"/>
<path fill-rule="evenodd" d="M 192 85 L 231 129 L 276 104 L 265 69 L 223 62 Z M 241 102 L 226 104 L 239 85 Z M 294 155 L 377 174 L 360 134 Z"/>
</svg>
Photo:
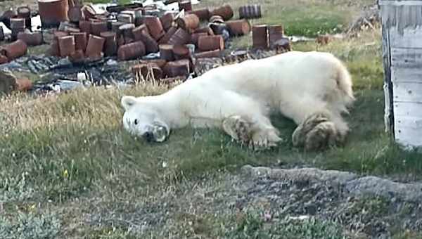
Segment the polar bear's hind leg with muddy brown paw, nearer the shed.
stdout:
<svg viewBox="0 0 422 239">
<path fill-rule="evenodd" d="M 289 105 L 295 108 L 287 108 Z M 281 112 L 298 124 L 292 135 L 294 147 L 324 150 L 344 142 L 349 130 L 347 124 L 340 113 L 328 110 L 326 103 L 302 99 L 289 105 L 281 105 Z"/>
</svg>

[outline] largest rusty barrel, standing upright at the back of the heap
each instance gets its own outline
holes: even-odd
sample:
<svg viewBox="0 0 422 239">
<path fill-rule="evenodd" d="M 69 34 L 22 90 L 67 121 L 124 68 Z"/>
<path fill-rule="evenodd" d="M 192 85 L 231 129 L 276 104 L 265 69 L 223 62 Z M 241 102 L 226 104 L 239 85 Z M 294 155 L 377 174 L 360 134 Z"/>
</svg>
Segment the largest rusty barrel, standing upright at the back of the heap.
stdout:
<svg viewBox="0 0 422 239">
<path fill-rule="evenodd" d="M 38 0 L 41 25 L 44 28 L 58 27 L 68 19 L 68 0 Z"/>
</svg>

